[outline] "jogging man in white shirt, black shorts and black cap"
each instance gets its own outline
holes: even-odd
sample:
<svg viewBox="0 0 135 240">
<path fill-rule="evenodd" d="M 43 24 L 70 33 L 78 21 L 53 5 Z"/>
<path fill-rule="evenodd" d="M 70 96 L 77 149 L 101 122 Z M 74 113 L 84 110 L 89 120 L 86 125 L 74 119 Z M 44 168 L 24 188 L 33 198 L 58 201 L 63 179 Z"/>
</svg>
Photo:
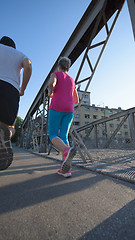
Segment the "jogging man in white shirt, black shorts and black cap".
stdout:
<svg viewBox="0 0 135 240">
<path fill-rule="evenodd" d="M 23 79 L 20 87 L 20 75 Z M 32 73 L 30 59 L 16 50 L 9 37 L 0 39 L 0 170 L 9 167 L 13 160 L 11 137 L 19 108 L 20 96 L 24 95 Z"/>
</svg>

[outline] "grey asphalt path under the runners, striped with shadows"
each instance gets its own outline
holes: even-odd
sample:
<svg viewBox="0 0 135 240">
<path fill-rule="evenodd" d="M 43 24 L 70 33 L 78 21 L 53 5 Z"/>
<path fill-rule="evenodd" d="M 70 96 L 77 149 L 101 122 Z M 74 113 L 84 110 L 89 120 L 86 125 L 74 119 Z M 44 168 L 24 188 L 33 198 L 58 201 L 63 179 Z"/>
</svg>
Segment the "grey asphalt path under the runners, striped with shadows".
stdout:
<svg viewBox="0 0 135 240">
<path fill-rule="evenodd" d="M 14 149 L 0 172 L 0 240 L 135 240 L 135 184 Z"/>
</svg>

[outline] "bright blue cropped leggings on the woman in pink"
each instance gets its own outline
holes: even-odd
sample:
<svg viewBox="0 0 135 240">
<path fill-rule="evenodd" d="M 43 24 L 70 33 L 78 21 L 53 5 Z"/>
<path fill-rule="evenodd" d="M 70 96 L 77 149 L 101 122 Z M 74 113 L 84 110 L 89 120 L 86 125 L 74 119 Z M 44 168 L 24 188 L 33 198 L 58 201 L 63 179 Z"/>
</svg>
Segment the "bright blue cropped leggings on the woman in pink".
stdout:
<svg viewBox="0 0 135 240">
<path fill-rule="evenodd" d="M 72 112 L 58 112 L 49 109 L 49 138 L 52 141 L 54 137 L 60 137 L 65 144 L 68 144 L 68 132 L 73 119 Z M 60 133 L 59 133 L 60 129 Z"/>
</svg>

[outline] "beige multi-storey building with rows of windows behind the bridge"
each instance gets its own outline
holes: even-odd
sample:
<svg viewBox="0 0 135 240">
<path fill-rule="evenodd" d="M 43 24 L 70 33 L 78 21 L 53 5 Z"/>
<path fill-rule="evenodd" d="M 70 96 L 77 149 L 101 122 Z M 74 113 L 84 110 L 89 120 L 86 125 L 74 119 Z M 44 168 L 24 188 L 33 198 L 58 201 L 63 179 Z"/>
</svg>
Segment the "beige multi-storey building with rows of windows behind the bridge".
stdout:
<svg viewBox="0 0 135 240">
<path fill-rule="evenodd" d="M 78 95 L 79 98 L 81 98 L 83 94 L 83 91 L 78 89 Z M 77 106 L 75 106 L 76 108 Z M 79 128 L 81 126 L 84 126 L 88 123 L 94 122 L 99 119 L 104 119 L 106 117 L 109 117 L 113 114 L 119 113 L 122 110 L 120 107 L 118 109 L 115 108 L 108 108 L 108 106 L 101 107 L 101 106 L 95 106 L 94 104 L 90 104 L 90 92 L 86 92 L 84 101 L 82 102 L 82 105 L 80 106 L 80 109 L 75 117 L 74 120 L 74 126 L 75 128 Z M 99 142 L 105 142 L 107 138 L 109 138 L 115 129 L 118 127 L 121 119 L 117 118 L 112 121 L 108 121 L 106 123 L 98 125 L 97 129 L 97 135 Z M 92 130 L 89 139 L 86 139 L 86 133 L 88 130 L 80 132 L 81 136 L 85 138 L 85 140 L 89 140 L 91 143 L 94 142 L 95 139 L 95 131 Z M 125 121 L 125 123 L 122 125 L 120 130 L 118 131 L 117 135 L 115 136 L 116 143 L 123 142 L 128 143 L 130 141 L 130 128 L 128 120 Z"/>
</svg>

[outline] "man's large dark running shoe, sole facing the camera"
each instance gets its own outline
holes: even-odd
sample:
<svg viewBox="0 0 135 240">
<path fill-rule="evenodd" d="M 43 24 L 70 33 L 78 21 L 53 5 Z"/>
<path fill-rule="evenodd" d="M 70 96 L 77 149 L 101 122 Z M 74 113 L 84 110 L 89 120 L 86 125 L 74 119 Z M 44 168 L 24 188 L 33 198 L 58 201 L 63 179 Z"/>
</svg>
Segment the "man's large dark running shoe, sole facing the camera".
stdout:
<svg viewBox="0 0 135 240">
<path fill-rule="evenodd" d="M 13 161 L 13 151 L 10 141 L 10 131 L 0 124 L 0 170 L 5 170 Z"/>
</svg>

